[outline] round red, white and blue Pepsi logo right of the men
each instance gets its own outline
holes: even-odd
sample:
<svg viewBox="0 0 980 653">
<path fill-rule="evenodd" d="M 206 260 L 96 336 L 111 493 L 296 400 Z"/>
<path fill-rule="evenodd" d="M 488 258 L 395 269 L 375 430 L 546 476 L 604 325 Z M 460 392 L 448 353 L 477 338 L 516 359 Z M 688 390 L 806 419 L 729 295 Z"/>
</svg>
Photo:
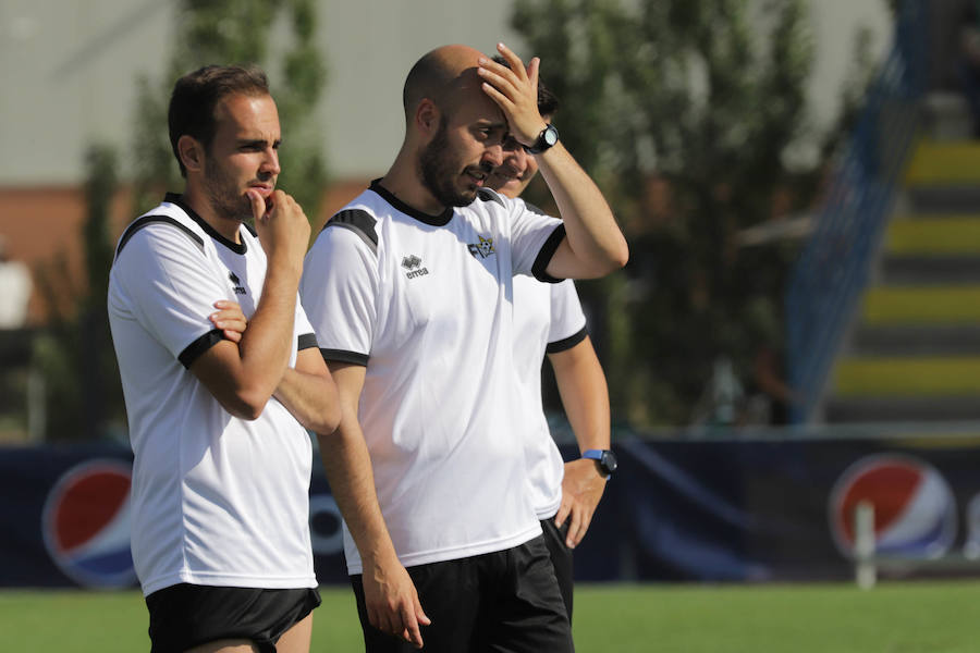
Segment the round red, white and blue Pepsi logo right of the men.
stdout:
<svg viewBox="0 0 980 653">
<path fill-rule="evenodd" d="M 878 554 L 936 558 L 956 538 L 956 500 L 942 475 L 906 455 L 867 456 L 848 467 L 830 495 L 830 527 L 837 550 L 853 557 L 855 509 L 874 507 Z"/>
</svg>

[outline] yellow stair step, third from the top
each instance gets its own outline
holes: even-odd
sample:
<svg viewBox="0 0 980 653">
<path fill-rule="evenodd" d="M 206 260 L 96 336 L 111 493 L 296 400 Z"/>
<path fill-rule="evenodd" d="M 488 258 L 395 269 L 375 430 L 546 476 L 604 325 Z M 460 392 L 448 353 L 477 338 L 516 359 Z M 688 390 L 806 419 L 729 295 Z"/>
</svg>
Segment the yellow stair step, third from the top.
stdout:
<svg viewBox="0 0 980 653">
<path fill-rule="evenodd" d="M 867 325 L 963 324 L 980 329 L 980 286 L 878 286 L 862 298 Z"/>
</svg>

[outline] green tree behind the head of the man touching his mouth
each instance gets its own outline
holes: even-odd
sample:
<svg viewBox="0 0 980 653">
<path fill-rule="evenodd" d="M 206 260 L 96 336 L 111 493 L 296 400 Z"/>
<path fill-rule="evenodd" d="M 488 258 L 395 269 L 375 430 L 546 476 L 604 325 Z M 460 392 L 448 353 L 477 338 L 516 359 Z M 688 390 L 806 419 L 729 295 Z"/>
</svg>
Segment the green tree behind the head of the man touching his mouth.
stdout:
<svg viewBox="0 0 980 653">
<path fill-rule="evenodd" d="M 323 90 L 327 69 L 315 37 L 314 0 L 181 0 L 173 54 L 163 79 L 143 76 L 135 128 L 135 189 L 139 210 L 155 206 L 166 189 L 183 182 L 167 134 L 173 83 L 204 65 L 257 63 L 270 77 L 283 133 L 278 186 L 293 195 L 314 220 L 327 180 L 321 135 L 309 120 Z M 281 38 L 280 28 L 287 32 Z M 279 49 L 272 47 L 285 44 Z"/>
</svg>

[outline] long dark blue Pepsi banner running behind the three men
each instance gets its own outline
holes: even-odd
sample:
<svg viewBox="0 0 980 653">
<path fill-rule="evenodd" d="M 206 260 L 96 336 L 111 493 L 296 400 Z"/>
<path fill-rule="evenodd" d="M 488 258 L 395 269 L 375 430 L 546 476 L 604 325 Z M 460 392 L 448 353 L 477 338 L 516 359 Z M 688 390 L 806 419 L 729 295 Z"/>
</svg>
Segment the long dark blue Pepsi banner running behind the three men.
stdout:
<svg viewBox="0 0 980 653">
<path fill-rule="evenodd" d="M 904 576 L 938 562 L 943 574 L 980 570 L 980 440 L 627 438 L 614 448 L 618 470 L 575 552 L 579 580 L 847 579 L 862 501 L 879 555 Z M 135 587 L 131 465 L 115 444 L 0 449 L 0 586 Z M 315 470 L 317 577 L 346 583 L 340 512 Z"/>
</svg>

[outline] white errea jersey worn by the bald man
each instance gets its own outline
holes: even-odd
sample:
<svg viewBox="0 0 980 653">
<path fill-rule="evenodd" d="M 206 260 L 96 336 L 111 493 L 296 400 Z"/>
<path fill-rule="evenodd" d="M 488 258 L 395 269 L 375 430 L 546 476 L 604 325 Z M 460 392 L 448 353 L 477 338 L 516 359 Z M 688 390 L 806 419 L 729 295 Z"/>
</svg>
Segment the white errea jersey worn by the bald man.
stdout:
<svg viewBox="0 0 980 653">
<path fill-rule="evenodd" d="M 543 269 L 561 222 L 492 190 L 441 215 L 372 184 L 334 215 L 299 289 L 323 356 L 367 366 L 358 417 L 406 567 L 540 534 L 513 361 L 513 275 Z M 347 569 L 360 556 L 344 531 Z"/>
</svg>

